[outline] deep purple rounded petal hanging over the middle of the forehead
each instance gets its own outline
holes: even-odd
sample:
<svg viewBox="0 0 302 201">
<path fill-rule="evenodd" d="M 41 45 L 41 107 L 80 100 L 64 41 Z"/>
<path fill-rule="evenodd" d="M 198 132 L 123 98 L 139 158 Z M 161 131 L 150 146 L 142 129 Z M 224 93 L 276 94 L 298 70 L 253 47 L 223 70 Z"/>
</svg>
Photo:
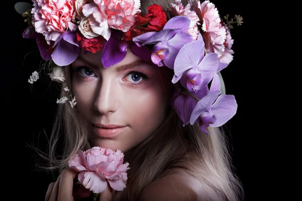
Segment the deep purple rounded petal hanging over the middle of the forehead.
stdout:
<svg viewBox="0 0 302 201">
<path fill-rule="evenodd" d="M 105 43 L 102 63 L 105 68 L 121 62 L 126 57 L 127 52 L 120 51 L 120 42 L 110 37 Z"/>
</svg>

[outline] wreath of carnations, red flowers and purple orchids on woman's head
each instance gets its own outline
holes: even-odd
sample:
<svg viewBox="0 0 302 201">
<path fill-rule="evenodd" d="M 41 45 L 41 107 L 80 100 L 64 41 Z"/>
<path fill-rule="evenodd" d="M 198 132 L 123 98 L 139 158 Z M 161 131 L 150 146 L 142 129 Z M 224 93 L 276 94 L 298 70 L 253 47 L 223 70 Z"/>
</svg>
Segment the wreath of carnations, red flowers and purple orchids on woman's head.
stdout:
<svg viewBox="0 0 302 201">
<path fill-rule="evenodd" d="M 23 37 L 35 38 L 41 57 L 57 65 L 49 73 L 52 80 L 64 82 L 62 66 L 72 63 L 80 49 L 103 50 L 101 60 L 108 68 L 122 61 L 129 48 L 142 59 L 174 70 L 172 106 L 183 126 L 197 122 L 207 133 L 208 126 L 222 126 L 236 114 L 236 99 L 224 94 L 220 71 L 233 60 L 230 30 L 233 24 L 242 25 L 241 16 L 225 16 L 224 22 L 214 4 L 198 0 L 185 6 L 175 0 L 169 21 L 157 4 L 142 15 L 139 0 L 32 1 L 17 3 L 15 9 L 29 24 Z M 35 71 L 28 81 L 38 78 Z M 68 99 L 73 108 L 72 96 L 57 103 Z"/>
</svg>

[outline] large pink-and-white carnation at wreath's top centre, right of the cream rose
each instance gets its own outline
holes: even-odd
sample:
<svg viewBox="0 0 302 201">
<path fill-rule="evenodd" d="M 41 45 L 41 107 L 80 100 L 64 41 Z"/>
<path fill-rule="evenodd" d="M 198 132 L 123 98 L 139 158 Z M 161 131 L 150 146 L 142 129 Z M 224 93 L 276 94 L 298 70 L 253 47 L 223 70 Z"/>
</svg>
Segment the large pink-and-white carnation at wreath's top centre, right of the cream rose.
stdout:
<svg viewBox="0 0 302 201">
<path fill-rule="evenodd" d="M 109 40 L 111 28 L 122 32 L 130 30 L 139 7 L 139 0 L 94 0 L 83 6 L 83 14 L 88 17 L 92 31 Z"/>
</svg>

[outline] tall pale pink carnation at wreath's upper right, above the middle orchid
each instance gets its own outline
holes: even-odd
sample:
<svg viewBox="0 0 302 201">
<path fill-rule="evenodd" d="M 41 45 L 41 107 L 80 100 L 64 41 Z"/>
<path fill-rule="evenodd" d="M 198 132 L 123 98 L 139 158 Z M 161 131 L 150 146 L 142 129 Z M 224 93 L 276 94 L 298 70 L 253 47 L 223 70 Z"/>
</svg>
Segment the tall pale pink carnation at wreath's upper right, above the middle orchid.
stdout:
<svg viewBox="0 0 302 201">
<path fill-rule="evenodd" d="M 215 8 L 215 5 L 209 1 L 204 1 L 200 4 L 199 1 L 190 1 L 192 10 L 195 11 L 199 20 L 202 23 L 202 37 L 205 43 L 207 53 L 213 52 L 221 56 L 224 51 L 224 41 L 226 38 L 226 31 Z"/>
</svg>

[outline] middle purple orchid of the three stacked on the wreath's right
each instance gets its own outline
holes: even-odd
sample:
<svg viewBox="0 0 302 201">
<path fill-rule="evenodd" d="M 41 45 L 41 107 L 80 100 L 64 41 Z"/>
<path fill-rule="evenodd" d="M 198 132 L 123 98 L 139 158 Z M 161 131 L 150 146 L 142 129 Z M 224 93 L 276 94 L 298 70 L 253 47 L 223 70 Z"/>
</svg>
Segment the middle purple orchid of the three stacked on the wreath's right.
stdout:
<svg viewBox="0 0 302 201">
<path fill-rule="evenodd" d="M 180 80 L 183 87 L 197 92 L 211 81 L 217 72 L 218 64 L 216 53 L 205 54 L 204 41 L 199 34 L 196 41 L 185 44 L 179 50 L 174 63 L 175 75 L 172 82 Z"/>
</svg>

